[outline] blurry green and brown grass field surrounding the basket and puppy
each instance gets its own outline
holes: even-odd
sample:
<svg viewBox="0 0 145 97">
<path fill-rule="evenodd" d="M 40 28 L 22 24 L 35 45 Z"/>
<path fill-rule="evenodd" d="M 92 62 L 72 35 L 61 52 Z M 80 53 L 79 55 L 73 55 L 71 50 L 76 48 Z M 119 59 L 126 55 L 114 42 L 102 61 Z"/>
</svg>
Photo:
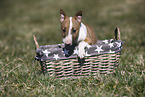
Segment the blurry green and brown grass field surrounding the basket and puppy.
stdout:
<svg viewBox="0 0 145 97">
<path fill-rule="evenodd" d="M 144 0 L 1 0 L 0 96 L 145 96 Z M 83 11 L 83 21 L 99 40 L 118 26 L 125 41 L 115 74 L 60 80 L 44 76 L 33 59 L 40 45 L 61 43 L 60 14 Z"/>
</svg>

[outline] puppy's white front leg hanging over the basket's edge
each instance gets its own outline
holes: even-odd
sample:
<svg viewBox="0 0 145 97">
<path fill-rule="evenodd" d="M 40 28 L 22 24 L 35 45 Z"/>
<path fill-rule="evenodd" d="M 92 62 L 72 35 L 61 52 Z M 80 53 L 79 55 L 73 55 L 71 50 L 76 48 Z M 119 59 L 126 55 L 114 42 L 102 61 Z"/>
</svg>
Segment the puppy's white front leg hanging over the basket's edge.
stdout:
<svg viewBox="0 0 145 97">
<path fill-rule="evenodd" d="M 85 41 L 81 41 L 78 45 L 78 56 L 80 57 L 80 59 L 84 58 L 85 56 L 85 47 L 89 45 L 87 42 Z"/>
</svg>

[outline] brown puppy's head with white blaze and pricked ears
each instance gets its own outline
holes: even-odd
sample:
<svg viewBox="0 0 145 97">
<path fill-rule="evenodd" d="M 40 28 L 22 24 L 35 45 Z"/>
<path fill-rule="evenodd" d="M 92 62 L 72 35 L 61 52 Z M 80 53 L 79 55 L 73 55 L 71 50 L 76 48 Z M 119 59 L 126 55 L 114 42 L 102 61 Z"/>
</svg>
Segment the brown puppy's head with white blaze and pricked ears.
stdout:
<svg viewBox="0 0 145 97">
<path fill-rule="evenodd" d="M 61 35 L 66 45 L 76 44 L 80 23 L 82 21 L 82 11 L 76 13 L 75 17 L 67 17 L 65 12 L 60 9 Z"/>
</svg>

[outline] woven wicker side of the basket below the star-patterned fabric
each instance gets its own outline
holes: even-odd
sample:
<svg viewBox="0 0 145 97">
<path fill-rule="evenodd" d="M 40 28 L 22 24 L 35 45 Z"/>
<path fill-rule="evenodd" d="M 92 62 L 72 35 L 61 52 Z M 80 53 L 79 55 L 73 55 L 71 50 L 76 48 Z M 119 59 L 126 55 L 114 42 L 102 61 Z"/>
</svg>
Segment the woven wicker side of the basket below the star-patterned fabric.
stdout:
<svg viewBox="0 0 145 97">
<path fill-rule="evenodd" d="M 43 74 L 48 73 L 56 78 L 80 78 L 98 74 L 114 73 L 118 66 L 120 52 L 86 57 L 80 65 L 77 58 L 61 61 L 40 61 Z"/>
</svg>

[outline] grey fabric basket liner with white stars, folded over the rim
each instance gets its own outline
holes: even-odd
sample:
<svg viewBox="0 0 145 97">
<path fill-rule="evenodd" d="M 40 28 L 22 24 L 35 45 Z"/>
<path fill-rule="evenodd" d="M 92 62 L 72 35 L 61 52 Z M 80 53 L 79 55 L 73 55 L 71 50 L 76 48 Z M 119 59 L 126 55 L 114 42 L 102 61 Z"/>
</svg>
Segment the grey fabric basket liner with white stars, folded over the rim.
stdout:
<svg viewBox="0 0 145 97">
<path fill-rule="evenodd" d="M 122 50 L 121 40 L 98 40 L 97 44 L 85 48 L 86 57 L 100 54 L 117 53 Z M 40 61 L 62 60 L 77 58 L 78 50 L 75 46 L 66 47 L 64 44 L 44 45 L 36 50 L 35 59 Z"/>
</svg>

